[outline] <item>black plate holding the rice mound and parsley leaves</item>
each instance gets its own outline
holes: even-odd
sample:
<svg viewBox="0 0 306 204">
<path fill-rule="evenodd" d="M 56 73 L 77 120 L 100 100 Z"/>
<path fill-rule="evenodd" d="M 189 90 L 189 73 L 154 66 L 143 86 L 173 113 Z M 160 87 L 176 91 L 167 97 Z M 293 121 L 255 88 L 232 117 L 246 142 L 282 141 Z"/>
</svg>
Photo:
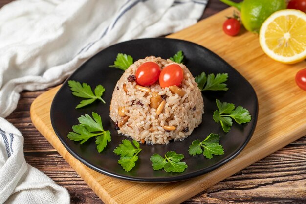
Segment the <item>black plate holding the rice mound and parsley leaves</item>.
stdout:
<svg viewBox="0 0 306 204">
<path fill-rule="evenodd" d="M 193 76 L 202 71 L 209 73 L 228 73 L 228 91 L 206 91 L 202 93 L 204 111 L 202 124 L 184 141 L 171 142 L 168 145 L 141 145 L 142 151 L 136 166 L 126 172 L 117 164 L 119 156 L 113 153 L 125 136 L 118 135 L 114 124 L 109 118 L 109 105 L 117 80 L 123 74 L 118 68 L 109 68 L 118 53 L 130 54 L 134 60 L 146 56 L 160 56 L 167 59 L 178 50 L 184 52 L 184 64 L 190 69 Z M 95 102 L 87 107 L 75 109 L 82 100 L 71 94 L 67 80 L 86 82 L 91 87 L 98 84 L 106 87 L 103 94 L 107 104 Z M 236 157 L 250 140 L 258 115 L 258 100 L 256 93 L 249 82 L 244 79 L 234 68 L 227 64 L 218 55 L 200 45 L 176 39 L 139 39 L 112 45 L 89 59 L 77 69 L 63 84 L 55 95 L 51 106 L 51 122 L 53 129 L 66 149 L 78 160 L 88 167 L 103 174 L 136 182 L 173 182 L 190 179 L 210 172 Z M 221 125 L 213 120 L 213 112 L 217 109 L 216 98 L 222 102 L 241 105 L 252 115 L 250 123 L 238 125 L 234 123 L 229 133 L 222 131 Z M 84 144 L 69 140 L 66 136 L 72 131 L 71 126 L 78 124 L 77 118 L 84 114 L 96 112 L 101 115 L 105 130 L 111 132 L 111 142 L 107 148 L 98 153 L 95 139 L 89 139 Z M 215 155 L 206 159 L 203 155 L 191 156 L 188 147 L 192 141 L 201 141 L 210 133 L 220 135 L 220 144 L 223 145 L 224 155 Z M 131 140 L 131 139 L 130 139 Z M 164 155 L 167 151 L 175 151 L 185 156 L 183 161 L 188 168 L 183 173 L 167 173 L 164 170 L 154 171 L 151 167 L 150 156 L 154 153 Z"/>
</svg>

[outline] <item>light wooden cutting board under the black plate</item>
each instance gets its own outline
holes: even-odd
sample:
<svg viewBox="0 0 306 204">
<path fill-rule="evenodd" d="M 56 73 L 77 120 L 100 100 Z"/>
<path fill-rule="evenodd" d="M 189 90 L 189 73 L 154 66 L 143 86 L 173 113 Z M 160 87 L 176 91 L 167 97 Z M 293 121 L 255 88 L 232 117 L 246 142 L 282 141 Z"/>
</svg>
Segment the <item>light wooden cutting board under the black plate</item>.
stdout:
<svg viewBox="0 0 306 204">
<path fill-rule="evenodd" d="M 267 57 L 258 35 L 246 32 L 237 37 L 223 33 L 222 23 L 233 8 L 226 9 L 194 26 L 169 35 L 192 41 L 212 50 L 236 68 L 254 87 L 259 99 L 255 133 L 245 149 L 233 160 L 203 176 L 176 183 L 145 184 L 114 179 L 98 173 L 75 159 L 55 135 L 50 106 L 60 86 L 46 91 L 31 106 L 35 127 L 87 182 L 106 204 L 175 204 L 235 174 L 252 163 L 306 135 L 306 91 L 294 77 L 306 62 L 283 65 Z"/>
</svg>

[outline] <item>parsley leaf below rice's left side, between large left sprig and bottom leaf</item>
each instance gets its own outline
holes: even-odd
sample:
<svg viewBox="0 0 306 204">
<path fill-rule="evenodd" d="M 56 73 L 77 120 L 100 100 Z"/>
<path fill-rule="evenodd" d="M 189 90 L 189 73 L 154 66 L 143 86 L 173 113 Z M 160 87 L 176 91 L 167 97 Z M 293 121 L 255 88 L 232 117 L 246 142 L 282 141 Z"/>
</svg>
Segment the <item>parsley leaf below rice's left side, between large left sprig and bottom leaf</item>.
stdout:
<svg viewBox="0 0 306 204">
<path fill-rule="evenodd" d="M 118 147 L 114 150 L 114 153 L 120 155 L 120 160 L 118 160 L 118 164 L 120 164 L 125 171 L 131 171 L 131 169 L 136 165 L 135 162 L 138 160 L 138 154 L 141 151 L 139 148 L 140 145 L 137 141 L 133 140 L 132 145 L 131 141 L 124 139 L 122 140 L 122 144 L 119 144 Z"/>
</svg>

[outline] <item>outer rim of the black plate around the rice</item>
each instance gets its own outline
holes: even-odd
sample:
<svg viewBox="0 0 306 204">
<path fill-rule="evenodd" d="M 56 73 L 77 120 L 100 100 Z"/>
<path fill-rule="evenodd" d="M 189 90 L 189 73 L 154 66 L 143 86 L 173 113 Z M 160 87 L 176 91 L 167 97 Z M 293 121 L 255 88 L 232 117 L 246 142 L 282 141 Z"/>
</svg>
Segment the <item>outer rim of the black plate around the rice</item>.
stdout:
<svg viewBox="0 0 306 204">
<path fill-rule="evenodd" d="M 89 167 L 90 169 L 93 169 L 99 173 L 102 173 L 106 176 L 110 176 L 116 179 L 122 179 L 125 181 L 132 181 L 132 182 L 139 182 L 139 183 L 169 183 L 169 182 L 177 182 L 177 181 L 184 181 L 184 180 L 188 180 L 191 178 L 195 178 L 198 176 L 201 176 L 205 173 L 211 172 L 217 168 L 219 168 L 220 166 L 228 163 L 229 161 L 231 161 L 232 159 L 236 158 L 240 152 L 245 148 L 245 146 L 249 143 L 250 139 L 252 138 L 256 125 L 257 125 L 257 121 L 258 121 L 258 112 L 259 112 L 259 103 L 258 103 L 258 97 L 256 94 L 256 91 L 254 90 L 253 86 L 250 84 L 250 82 L 245 79 L 245 77 L 240 74 L 235 68 L 233 68 L 229 63 L 227 63 L 223 58 L 221 58 L 219 55 L 217 55 L 215 52 L 211 51 L 210 49 L 202 46 L 202 45 L 198 45 L 196 43 L 193 43 L 191 41 L 186 41 L 186 40 L 180 40 L 180 39 L 174 39 L 174 38 L 141 38 L 141 39 L 134 39 L 134 40 L 128 40 L 128 41 L 124 41 L 124 42 L 120 42 L 117 44 L 113 44 L 110 45 L 102 50 L 100 50 L 99 52 L 97 52 L 96 54 L 94 54 L 92 57 L 88 58 L 79 68 L 77 68 L 76 70 L 73 71 L 73 73 L 71 73 L 71 75 L 69 77 L 66 78 L 66 80 L 63 82 L 62 85 L 66 84 L 68 80 L 70 80 L 70 78 L 72 78 L 74 76 L 74 74 L 76 74 L 76 72 L 82 68 L 83 66 L 85 66 L 85 64 L 92 59 L 93 57 L 95 57 L 96 55 L 98 55 L 100 52 L 105 51 L 106 49 L 112 47 L 112 46 L 118 46 L 121 44 L 125 44 L 125 43 L 131 43 L 134 41 L 147 41 L 147 40 L 161 40 L 161 41 L 176 41 L 176 42 L 183 42 L 183 43 L 187 43 L 187 44 L 192 44 L 194 46 L 197 46 L 201 49 L 205 49 L 206 51 L 210 52 L 210 54 L 214 55 L 214 57 L 218 58 L 218 60 L 222 61 L 222 63 L 224 63 L 225 65 L 227 65 L 227 67 L 231 68 L 232 71 L 237 72 L 244 80 L 246 83 L 248 83 L 250 85 L 250 87 L 252 88 L 252 91 L 254 93 L 255 96 L 255 101 L 254 101 L 254 105 L 255 105 L 255 115 L 252 115 L 252 120 L 254 120 L 253 125 L 251 127 L 251 131 L 249 132 L 246 140 L 243 142 L 242 146 L 233 154 L 231 155 L 229 158 L 222 160 L 220 162 L 218 162 L 217 164 L 214 164 L 211 167 L 205 168 L 205 171 L 203 169 L 197 170 L 195 172 L 191 172 L 188 174 L 178 174 L 175 176 L 171 176 L 171 177 L 158 177 L 158 178 L 143 178 L 143 177 L 135 177 L 135 176 L 130 176 L 130 175 L 120 175 L 120 174 L 114 174 L 111 173 L 109 171 L 103 170 L 101 168 L 96 167 L 95 165 L 91 164 L 90 162 L 88 162 L 86 159 L 83 159 L 81 155 L 79 155 L 78 153 L 74 152 L 72 149 L 70 149 L 69 145 L 67 145 L 65 143 L 65 141 L 62 139 L 61 134 L 59 133 L 58 130 L 56 130 L 56 128 L 54 128 L 54 117 L 52 116 L 53 114 L 53 109 L 54 109 L 54 99 L 58 96 L 58 94 L 61 92 L 62 89 L 64 89 L 64 86 L 61 86 L 60 89 L 56 92 L 56 94 L 54 95 L 54 98 L 52 99 L 52 103 L 51 103 L 51 107 L 50 107 L 50 120 L 51 120 L 51 125 L 52 125 L 52 129 L 54 130 L 56 136 L 59 138 L 59 140 L 61 141 L 61 143 L 63 144 L 63 146 L 66 148 L 66 150 L 77 160 L 79 160 L 81 163 L 85 164 L 87 167 Z M 203 93 L 202 93 L 203 94 Z"/>
</svg>

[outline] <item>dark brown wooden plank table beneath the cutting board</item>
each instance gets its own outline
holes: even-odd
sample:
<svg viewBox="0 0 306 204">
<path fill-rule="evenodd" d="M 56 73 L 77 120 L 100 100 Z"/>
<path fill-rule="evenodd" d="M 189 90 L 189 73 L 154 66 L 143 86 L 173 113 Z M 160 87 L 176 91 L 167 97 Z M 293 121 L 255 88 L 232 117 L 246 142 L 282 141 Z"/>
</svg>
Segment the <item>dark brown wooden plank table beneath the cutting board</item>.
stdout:
<svg viewBox="0 0 306 204">
<path fill-rule="evenodd" d="M 0 0 L 0 7 L 10 1 L 12 0 Z M 201 19 L 226 7 L 218 0 L 210 0 Z M 30 105 L 44 91 L 46 90 L 23 91 L 17 109 L 7 117 L 24 136 L 26 161 L 65 187 L 70 193 L 71 204 L 102 204 L 103 202 L 33 126 Z M 306 136 L 190 198 L 184 204 L 306 204 L 306 199 L 301 200 L 301 195 L 299 198 L 296 196 L 297 189 L 305 186 Z M 280 188 L 284 193 L 275 194 L 275 189 Z"/>
</svg>

